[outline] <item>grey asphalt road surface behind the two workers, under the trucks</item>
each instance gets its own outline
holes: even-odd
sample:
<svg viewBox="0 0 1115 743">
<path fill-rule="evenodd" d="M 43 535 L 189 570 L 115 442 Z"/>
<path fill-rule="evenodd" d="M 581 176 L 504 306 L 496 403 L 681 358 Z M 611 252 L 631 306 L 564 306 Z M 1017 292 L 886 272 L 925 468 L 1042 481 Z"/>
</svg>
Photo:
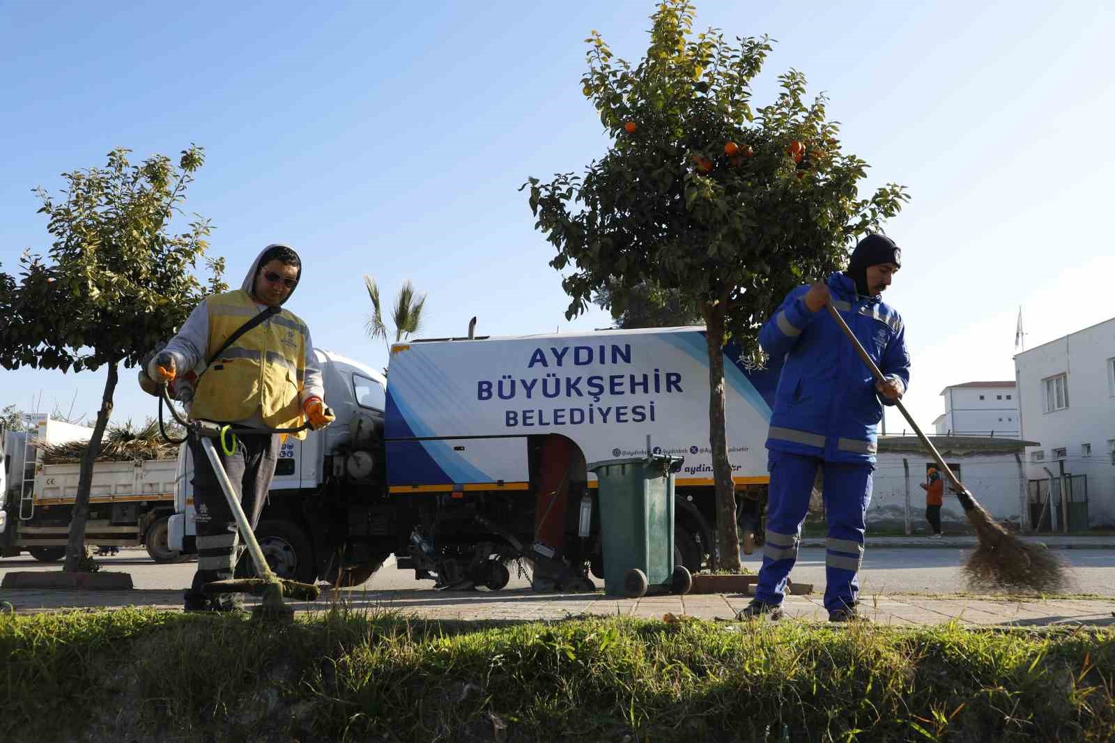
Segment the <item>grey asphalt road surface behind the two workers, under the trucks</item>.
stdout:
<svg viewBox="0 0 1115 743">
<path fill-rule="evenodd" d="M 860 573 L 864 594 L 952 594 L 964 590 L 960 565 L 967 550 L 949 548 L 867 548 Z M 1055 553 L 1072 562 L 1074 589 L 1083 594 L 1115 597 L 1115 550 L 1056 550 Z M 825 553 L 822 549 L 803 549 L 794 568 L 796 582 L 814 583 L 817 594 L 825 582 Z M 129 572 L 137 589 L 171 590 L 190 585 L 196 565 L 155 565 L 143 549 L 125 549 L 118 557 L 100 558 L 104 570 Z M 8 570 L 58 570 L 60 563 L 38 562 L 28 556 L 0 560 L 0 578 Z M 762 557 L 744 558 L 744 565 L 758 570 Z M 597 581 L 602 586 L 602 581 Z M 530 581 L 515 575 L 508 589 L 526 588 Z M 416 581 L 410 570 L 385 566 L 362 586 L 365 590 L 428 590 L 432 581 Z"/>
</svg>

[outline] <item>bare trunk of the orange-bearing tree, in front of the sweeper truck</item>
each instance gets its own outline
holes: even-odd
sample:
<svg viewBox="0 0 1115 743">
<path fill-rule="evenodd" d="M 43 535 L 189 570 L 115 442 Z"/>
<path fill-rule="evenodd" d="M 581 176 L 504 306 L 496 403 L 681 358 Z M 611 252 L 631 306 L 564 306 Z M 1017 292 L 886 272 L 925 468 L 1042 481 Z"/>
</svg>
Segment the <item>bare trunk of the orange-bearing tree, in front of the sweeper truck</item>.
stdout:
<svg viewBox="0 0 1115 743">
<path fill-rule="evenodd" d="M 708 344 L 708 437 L 712 450 L 712 480 L 716 483 L 716 543 L 719 554 L 714 567 L 739 570 L 739 534 L 736 531 L 736 486 L 728 462 L 728 434 L 725 419 L 724 388 L 724 303 L 705 313 Z"/>
</svg>

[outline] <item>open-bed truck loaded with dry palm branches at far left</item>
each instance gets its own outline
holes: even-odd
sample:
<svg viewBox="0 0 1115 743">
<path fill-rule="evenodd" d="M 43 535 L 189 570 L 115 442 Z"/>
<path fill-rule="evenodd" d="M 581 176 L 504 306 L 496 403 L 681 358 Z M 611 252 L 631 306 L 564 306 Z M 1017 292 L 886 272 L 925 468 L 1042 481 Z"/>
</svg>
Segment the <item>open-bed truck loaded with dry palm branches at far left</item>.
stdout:
<svg viewBox="0 0 1115 743">
<path fill-rule="evenodd" d="M 0 554 L 29 552 L 52 562 L 66 554 L 81 465 L 43 464 L 42 445 L 88 441 L 93 430 L 30 416 L 26 432 L 9 432 L 9 490 L 0 511 Z M 85 541 L 91 547 L 146 547 L 156 562 L 183 559 L 167 544 L 174 513 L 175 460 L 98 461 L 93 466 Z M 21 476 L 12 477 L 11 472 Z"/>
</svg>

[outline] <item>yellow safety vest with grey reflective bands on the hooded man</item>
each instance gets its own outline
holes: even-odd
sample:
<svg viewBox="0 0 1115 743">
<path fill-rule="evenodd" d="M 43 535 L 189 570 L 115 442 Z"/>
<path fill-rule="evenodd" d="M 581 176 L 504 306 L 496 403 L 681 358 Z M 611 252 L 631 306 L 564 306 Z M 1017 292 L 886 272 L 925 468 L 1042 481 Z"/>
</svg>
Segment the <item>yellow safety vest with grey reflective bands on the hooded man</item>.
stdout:
<svg viewBox="0 0 1115 743">
<path fill-rule="evenodd" d="M 260 309 L 246 291 L 237 289 L 205 299 L 209 310 L 211 357 L 240 326 Z M 281 310 L 255 326 L 213 359 L 197 384 L 191 418 L 235 422 L 262 414 L 272 428 L 302 424 L 301 395 L 306 372 L 306 325 Z M 306 432 L 293 434 L 306 438 Z"/>
</svg>

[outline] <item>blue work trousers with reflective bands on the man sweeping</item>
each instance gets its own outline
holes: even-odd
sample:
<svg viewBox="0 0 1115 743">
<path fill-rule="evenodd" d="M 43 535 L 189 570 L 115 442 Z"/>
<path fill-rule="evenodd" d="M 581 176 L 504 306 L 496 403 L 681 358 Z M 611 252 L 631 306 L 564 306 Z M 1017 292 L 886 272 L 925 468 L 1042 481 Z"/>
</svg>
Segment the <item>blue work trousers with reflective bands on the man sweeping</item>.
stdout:
<svg viewBox="0 0 1115 743">
<path fill-rule="evenodd" d="M 809 495 L 817 467 L 824 467 L 824 503 L 828 520 L 825 540 L 825 608 L 830 611 L 856 605 L 856 573 L 863 560 L 864 517 L 871 503 L 870 462 L 824 462 L 821 457 L 770 451 L 770 489 L 767 498 L 766 542 L 755 597 L 782 604 L 789 571 L 797 561 L 802 523 L 809 510 Z"/>
</svg>

